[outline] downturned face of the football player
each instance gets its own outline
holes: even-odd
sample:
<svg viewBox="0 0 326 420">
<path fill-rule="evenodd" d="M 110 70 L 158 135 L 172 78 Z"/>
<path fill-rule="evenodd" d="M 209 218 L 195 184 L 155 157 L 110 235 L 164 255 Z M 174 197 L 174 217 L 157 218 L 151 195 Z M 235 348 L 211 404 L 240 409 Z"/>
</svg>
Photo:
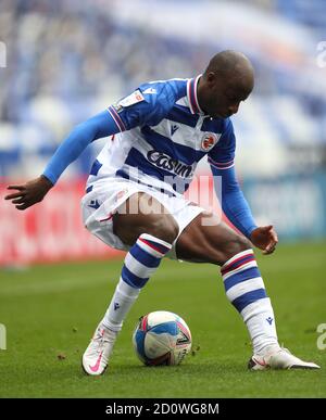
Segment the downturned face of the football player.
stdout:
<svg viewBox="0 0 326 420">
<path fill-rule="evenodd" d="M 251 91 L 252 86 L 246 87 L 235 80 L 225 82 L 215 78 L 209 90 L 205 112 L 212 117 L 227 118 L 238 112 L 240 103 Z"/>
</svg>

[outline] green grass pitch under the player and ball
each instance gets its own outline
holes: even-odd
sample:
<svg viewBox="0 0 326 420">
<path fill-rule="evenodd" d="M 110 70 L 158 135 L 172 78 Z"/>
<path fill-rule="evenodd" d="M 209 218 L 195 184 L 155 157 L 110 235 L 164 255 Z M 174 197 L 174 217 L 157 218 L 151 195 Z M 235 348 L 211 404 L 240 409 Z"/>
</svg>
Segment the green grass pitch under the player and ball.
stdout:
<svg viewBox="0 0 326 420">
<path fill-rule="evenodd" d="M 86 377 L 80 357 L 120 276 L 120 260 L 0 271 L 0 397 L 326 397 L 326 243 L 256 252 L 281 343 L 322 366 L 318 371 L 250 372 L 251 346 L 227 302 L 218 268 L 164 260 L 133 307 L 110 368 Z M 195 355 L 177 367 L 148 368 L 134 354 L 139 316 L 172 310 L 189 324 Z M 326 343 L 326 340 L 324 341 Z"/>
</svg>

